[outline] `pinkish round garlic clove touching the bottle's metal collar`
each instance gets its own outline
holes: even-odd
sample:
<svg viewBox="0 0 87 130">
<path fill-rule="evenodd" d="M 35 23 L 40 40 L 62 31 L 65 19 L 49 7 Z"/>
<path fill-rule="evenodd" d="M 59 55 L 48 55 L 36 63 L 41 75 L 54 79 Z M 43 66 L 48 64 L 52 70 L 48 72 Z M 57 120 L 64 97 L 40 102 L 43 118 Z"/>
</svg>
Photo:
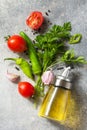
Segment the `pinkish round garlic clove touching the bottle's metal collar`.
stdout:
<svg viewBox="0 0 87 130">
<path fill-rule="evenodd" d="M 42 82 L 45 85 L 50 85 L 54 83 L 55 75 L 52 71 L 45 71 L 41 77 Z"/>
</svg>

